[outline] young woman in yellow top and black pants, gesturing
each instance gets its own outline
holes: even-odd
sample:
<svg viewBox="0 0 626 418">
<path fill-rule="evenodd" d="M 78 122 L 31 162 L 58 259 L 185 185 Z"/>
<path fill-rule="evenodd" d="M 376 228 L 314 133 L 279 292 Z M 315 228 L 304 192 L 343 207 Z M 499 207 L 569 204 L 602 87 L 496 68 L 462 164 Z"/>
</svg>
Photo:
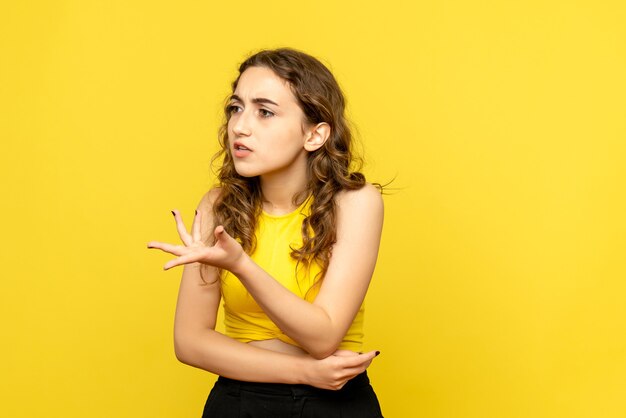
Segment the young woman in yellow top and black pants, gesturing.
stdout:
<svg viewBox="0 0 626 418">
<path fill-rule="evenodd" d="M 218 374 L 205 417 L 382 417 L 361 353 L 383 223 L 353 171 L 345 100 L 317 59 L 282 48 L 239 68 L 220 130 L 218 187 L 184 245 L 175 318 L 183 363 Z M 215 331 L 224 300 L 225 335 Z"/>
</svg>

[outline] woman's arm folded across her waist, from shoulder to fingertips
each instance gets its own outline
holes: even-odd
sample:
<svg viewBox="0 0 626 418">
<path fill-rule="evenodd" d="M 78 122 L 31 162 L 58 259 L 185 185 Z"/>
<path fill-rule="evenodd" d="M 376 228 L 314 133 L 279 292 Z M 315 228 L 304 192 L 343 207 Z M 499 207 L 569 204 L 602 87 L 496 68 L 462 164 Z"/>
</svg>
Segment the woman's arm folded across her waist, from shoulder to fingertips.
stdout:
<svg viewBox="0 0 626 418">
<path fill-rule="evenodd" d="M 205 216 L 197 217 L 203 221 L 194 224 L 193 234 L 206 234 L 212 225 L 210 213 L 215 194 L 209 192 L 200 202 L 198 212 Z M 185 266 L 176 305 L 174 345 L 181 362 L 233 379 L 339 389 L 365 370 L 375 356 L 370 352 L 315 360 L 254 347 L 218 333 L 214 329 L 221 299 L 217 270 L 210 269 L 203 281 L 199 267 L 198 263 Z"/>
</svg>

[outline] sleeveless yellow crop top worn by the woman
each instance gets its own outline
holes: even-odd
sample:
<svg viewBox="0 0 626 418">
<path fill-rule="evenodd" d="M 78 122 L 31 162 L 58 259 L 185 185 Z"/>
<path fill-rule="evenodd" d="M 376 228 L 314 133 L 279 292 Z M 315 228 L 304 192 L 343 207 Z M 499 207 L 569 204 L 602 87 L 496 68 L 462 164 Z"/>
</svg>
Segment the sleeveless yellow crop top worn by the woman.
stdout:
<svg viewBox="0 0 626 418">
<path fill-rule="evenodd" d="M 257 246 L 252 259 L 274 279 L 298 297 L 313 302 L 319 292 L 315 285 L 320 267 L 313 262 L 306 268 L 297 266 L 290 256 L 290 246 L 302 246 L 302 220 L 309 213 L 311 199 L 305 200 L 295 211 L 286 215 L 270 215 L 262 212 L 256 228 Z M 297 269 L 296 269 L 297 267 Z M 250 342 L 277 338 L 298 345 L 285 335 L 230 272 L 222 277 L 224 298 L 224 325 L 226 335 L 238 341 Z M 340 349 L 361 351 L 363 344 L 363 305 L 359 309 L 350 329 L 339 345 Z"/>
</svg>

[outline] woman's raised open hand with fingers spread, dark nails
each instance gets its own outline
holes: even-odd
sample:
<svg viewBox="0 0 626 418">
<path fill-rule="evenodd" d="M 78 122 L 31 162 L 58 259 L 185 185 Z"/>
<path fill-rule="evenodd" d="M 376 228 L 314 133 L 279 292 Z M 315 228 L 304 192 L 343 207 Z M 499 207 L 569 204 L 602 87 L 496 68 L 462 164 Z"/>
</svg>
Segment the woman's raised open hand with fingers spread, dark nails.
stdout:
<svg viewBox="0 0 626 418">
<path fill-rule="evenodd" d="M 201 239 L 200 223 L 201 215 L 196 211 L 193 219 L 191 233 L 187 232 L 185 225 L 178 211 L 172 211 L 176 220 L 176 227 L 181 241 L 185 245 L 173 245 L 164 242 L 150 241 L 148 248 L 157 248 L 170 254 L 177 255 L 178 258 L 170 260 L 163 266 L 164 270 L 182 264 L 203 263 L 220 269 L 232 271 L 246 256 L 241 245 L 219 225 L 213 232 L 215 244 L 206 245 Z"/>
</svg>

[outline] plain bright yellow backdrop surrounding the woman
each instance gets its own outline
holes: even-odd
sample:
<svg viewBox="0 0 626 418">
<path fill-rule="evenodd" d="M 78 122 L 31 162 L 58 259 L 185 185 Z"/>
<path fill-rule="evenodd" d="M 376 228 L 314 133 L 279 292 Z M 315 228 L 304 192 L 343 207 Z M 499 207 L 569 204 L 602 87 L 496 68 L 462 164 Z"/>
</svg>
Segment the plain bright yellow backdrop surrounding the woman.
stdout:
<svg viewBox="0 0 626 418">
<path fill-rule="evenodd" d="M 0 6 L 0 415 L 194 417 L 177 239 L 236 66 L 334 71 L 385 198 L 367 300 L 386 417 L 626 416 L 622 1 Z"/>
</svg>

